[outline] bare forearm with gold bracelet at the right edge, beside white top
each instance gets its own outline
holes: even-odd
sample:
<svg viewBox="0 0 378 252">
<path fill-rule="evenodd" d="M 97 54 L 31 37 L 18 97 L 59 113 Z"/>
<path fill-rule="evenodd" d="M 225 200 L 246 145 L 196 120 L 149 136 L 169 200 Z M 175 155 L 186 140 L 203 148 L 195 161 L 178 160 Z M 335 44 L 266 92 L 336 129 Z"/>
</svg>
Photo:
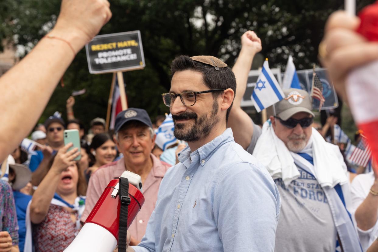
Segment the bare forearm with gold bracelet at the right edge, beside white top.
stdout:
<svg viewBox="0 0 378 252">
<path fill-rule="evenodd" d="M 377 221 L 378 196 L 369 193 L 355 212 L 357 226 L 362 230 L 372 228 Z"/>
</svg>

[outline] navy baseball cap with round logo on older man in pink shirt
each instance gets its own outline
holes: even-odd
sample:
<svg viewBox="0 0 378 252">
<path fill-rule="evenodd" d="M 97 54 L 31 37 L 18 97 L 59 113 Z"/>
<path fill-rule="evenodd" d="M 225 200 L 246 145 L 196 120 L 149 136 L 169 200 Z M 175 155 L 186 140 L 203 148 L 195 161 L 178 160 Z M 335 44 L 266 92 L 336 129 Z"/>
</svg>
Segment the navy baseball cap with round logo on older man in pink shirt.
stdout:
<svg viewBox="0 0 378 252">
<path fill-rule="evenodd" d="M 117 114 L 114 130 L 118 132 L 118 130 L 126 122 L 129 122 L 132 120 L 143 122 L 148 127 L 152 128 L 152 122 L 146 110 L 142 108 L 128 108 L 127 110 L 121 111 Z"/>
</svg>

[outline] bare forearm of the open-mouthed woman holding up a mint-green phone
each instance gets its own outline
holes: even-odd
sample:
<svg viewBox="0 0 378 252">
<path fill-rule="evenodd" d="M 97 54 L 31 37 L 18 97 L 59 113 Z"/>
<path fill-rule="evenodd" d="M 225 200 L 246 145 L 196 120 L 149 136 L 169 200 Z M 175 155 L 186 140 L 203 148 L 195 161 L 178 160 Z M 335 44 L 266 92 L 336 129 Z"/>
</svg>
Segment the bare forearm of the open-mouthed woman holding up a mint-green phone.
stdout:
<svg viewBox="0 0 378 252">
<path fill-rule="evenodd" d="M 33 194 L 30 205 L 30 220 L 33 223 L 40 223 L 45 218 L 50 207 L 51 199 L 59 182 L 60 176 L 54 170 L 50 170 L 37 190 Z"/>
</svg>

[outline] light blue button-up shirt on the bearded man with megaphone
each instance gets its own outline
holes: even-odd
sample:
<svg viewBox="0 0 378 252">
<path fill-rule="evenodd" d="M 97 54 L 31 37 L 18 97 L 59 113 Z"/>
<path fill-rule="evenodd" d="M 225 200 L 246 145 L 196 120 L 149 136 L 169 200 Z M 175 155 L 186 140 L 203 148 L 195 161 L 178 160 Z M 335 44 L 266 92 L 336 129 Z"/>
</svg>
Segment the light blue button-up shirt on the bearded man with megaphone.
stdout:
<svg viewBox="0 0 378 252">
<path fill-rule="evenodd" d="M 160 184 L 136 252 L 274 251 L 280 197 L 267 170 L 231 128 L 191 153 Z"/>
</svg>

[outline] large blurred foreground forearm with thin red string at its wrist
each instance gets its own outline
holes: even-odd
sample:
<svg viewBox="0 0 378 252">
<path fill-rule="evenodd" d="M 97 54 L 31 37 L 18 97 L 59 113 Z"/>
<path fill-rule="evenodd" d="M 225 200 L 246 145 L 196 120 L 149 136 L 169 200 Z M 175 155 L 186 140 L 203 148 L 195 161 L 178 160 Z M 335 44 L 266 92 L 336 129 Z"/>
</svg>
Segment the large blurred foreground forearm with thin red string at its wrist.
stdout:
<svg viewBox="0 0 378 252">
<path fill-rule="evenodd" d="M 61 37 L 59 31 L 51 34 Z M 72 39 L 74 35 L 66 38 Z M 73 47 L 79 51 L 82 45 L 73 44 Z M 0 132 L 6 132 L 0 134 L 0 160 L 14 150 L 36 124 L 73 58 L 74 53 L 66 42 L 44 38 L 0 78 L 0 111 L 8 120 L 0 124 Z"/>
</svg>

